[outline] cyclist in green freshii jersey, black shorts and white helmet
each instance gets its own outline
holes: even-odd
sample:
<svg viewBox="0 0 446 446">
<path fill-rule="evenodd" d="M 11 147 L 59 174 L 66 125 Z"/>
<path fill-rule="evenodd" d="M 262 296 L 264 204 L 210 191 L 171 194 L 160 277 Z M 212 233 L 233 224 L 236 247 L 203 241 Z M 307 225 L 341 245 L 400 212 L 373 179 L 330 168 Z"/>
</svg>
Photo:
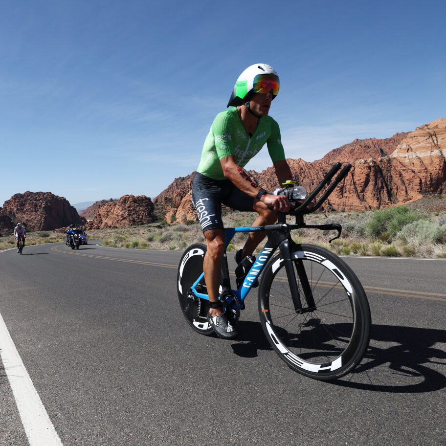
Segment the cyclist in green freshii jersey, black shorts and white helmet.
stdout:
<svg viewBox="0 0 446 446">
<path fill-rule="evenodd" d="M 278 91 L 279 77 L 269 65 L 251 65 L 242 72 L 229 99 L 227 108 L 230 108 L 216 116 L 206 136 L 192 184 L 192 204 L 197 210 L 207 246 L 203 262 L 210 307 L 207 319 L 222 338 L 233 338 L 237 333 L 218 302 L 220 259 L 224 252 L 221 204 L 239 211 L 256 211 L 259 216 L 253 226 L 275 223 L 274 210 L 290 210 L 290 202 L 285 196 L 268 194 L 243 169 L 267 144 L 279 184 L 292 179 L 279 126 L 268 116 L 271 101 Z M 236 254 L 237 263 L 252 255 L 265 236 L 264 232 L 249 233 L 245 246 Z"/>
</svg>

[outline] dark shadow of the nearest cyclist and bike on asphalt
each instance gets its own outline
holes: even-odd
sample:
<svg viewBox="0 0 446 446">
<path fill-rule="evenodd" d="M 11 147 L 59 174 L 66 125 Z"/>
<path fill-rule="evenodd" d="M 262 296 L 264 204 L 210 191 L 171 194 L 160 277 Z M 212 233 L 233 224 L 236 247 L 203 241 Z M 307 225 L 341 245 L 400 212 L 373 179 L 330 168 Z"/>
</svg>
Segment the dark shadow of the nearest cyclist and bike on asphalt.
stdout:
<svg viewBox="0 0 446 446">
<path fill-rule="evenodd" d="M 239 337 L 232 344 L 236 355 L 256 357 L 270 350 L 260 322 L 239 321 Z M 446 331 L 415 327 L 373 325 L 370 345 L 353 373 L 333 384 L 390 393 L 432 392 L 446 387 Z M 284 364 L 285 365 L 285 364 Z"/>
</svg>

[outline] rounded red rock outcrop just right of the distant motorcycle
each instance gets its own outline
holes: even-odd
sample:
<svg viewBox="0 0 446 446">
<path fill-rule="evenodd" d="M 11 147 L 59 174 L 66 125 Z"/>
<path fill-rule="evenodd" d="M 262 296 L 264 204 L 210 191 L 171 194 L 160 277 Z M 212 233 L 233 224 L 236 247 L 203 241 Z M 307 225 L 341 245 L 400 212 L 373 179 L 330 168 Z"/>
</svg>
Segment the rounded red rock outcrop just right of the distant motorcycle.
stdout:
<svg viewBox="0 0 446 446">
<path fill-rule="evenodd" d="M 153 211 L 154 205 L 149 197 L 124 195 L 117 201 L 109 201 L 101 206 L 94 219 L 84 227 L 104 229 L 152 223 L 156 220 Z"/>
</svg>

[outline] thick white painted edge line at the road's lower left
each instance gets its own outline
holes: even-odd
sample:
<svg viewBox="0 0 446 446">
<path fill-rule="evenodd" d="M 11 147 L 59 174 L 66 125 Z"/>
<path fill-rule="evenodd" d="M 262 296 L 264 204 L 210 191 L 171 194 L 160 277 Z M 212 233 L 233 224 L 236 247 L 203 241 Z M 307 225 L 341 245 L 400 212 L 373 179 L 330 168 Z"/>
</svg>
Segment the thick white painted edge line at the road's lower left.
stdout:
<svg viewBox="0 0 446 446">
<path fill-rule="evenodd" d="M 0 314 L 0 356 L 29 446 L 63 446 Z"/>
</svg>

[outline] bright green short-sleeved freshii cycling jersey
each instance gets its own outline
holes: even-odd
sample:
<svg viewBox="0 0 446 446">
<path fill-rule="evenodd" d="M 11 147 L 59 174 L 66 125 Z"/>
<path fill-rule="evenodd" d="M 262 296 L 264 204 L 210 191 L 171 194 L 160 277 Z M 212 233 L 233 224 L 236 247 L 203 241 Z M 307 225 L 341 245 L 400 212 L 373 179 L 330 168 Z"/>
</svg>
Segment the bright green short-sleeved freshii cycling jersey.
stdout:
<svg viewBox="0 0 446 446">
<path fill-rule="evenodd" d="M 285 159 L 280 129 L 274 119 L 263 116 L 253 134 L 245 129 L 237 107 L 220 112 L 204 141 L 197 172 L 213 179 L 225 179 L 220 160 L 234 155 L 236 163 L 245 167 L 247 162 L 267 144 L 272 162 Z"/>
</svg>

